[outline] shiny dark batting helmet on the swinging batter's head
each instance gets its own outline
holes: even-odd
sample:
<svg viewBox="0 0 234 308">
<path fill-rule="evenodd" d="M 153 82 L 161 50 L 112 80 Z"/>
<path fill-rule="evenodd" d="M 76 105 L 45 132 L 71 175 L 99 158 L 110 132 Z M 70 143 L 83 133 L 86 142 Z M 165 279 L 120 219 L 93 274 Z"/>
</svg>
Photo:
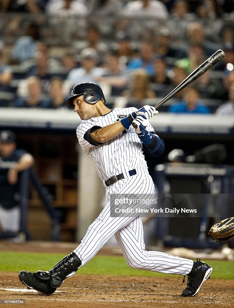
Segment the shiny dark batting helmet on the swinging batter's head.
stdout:
<svg viewBox="0 0 234 308">
<path fill-rule="evenodd" d="M 73 100 L 82 94 L 84 95 L 84 100 L 89 104 L 95 104 L 100 99 L 103 99 L 105 104 L 104 94 L 98 84 L 93 82 L 81 82 L 72 88 L 71 97 L 69 97 L 66 103 L 67 107 L 74 107 Z"/>
</svg>

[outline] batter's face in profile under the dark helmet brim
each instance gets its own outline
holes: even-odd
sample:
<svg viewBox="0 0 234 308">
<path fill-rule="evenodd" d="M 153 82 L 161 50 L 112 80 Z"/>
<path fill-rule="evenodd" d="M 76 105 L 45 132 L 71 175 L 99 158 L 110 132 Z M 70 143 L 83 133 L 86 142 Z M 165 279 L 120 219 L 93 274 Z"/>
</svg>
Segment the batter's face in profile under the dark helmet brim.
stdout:
<svg viewBox="0 0 234 308">
<path fill-rule="evenodd" d="M 73 100 L 74 112 L 77 112 L 81 120 L 89 120 L 97 114 L 95 105 L 85 102 L 84 95 Z"/>
</svg>

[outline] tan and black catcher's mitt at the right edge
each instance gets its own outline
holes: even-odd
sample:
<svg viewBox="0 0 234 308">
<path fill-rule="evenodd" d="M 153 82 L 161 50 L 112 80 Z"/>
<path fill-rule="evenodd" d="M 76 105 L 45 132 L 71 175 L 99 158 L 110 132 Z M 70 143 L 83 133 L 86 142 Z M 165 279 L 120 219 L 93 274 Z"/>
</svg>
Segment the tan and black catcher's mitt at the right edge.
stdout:
<svg viewBox="0 0 234 308">
<path fill-rule="evenodd" d="M 225 242 L 234 237 L 234 217 L 219 221 L 212 225 L 208 236 L 217 242 Z"/>
</svg>

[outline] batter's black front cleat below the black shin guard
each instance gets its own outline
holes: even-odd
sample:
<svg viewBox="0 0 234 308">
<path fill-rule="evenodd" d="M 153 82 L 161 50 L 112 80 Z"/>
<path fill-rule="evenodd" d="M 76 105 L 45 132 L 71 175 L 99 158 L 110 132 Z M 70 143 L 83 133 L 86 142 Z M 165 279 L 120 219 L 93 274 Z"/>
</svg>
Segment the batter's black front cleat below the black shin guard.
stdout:
<svg viewBox="0 0 234 308">
<path fill-rule="evenodd" d="M 34 289 L 38 291 L 40 295 L 49 296 L 56 290 L 56 288 L 53 288 L 50 284 L 51 276 L 49 272 L 38 270 L 35 273 L 30 273 L 22 270 L 19 272 L 18 277 L 27 289 Z"/>
</svg>

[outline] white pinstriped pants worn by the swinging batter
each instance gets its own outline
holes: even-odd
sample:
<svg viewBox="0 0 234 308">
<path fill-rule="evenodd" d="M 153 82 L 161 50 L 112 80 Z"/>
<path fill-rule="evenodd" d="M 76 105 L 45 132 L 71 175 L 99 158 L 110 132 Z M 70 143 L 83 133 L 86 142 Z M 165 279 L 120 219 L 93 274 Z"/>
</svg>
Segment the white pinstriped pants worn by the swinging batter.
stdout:
<svg viewBox="0 0 234 308">
<path fill-rule="evenodd" d="M 192 260 L 159 251 L 145 250 L 141 217 L 110 217 L 110 195 L 129 193 L 153 196 L 154 184 L 148 172 L 120 180 L 106 188 L 107 205 L 89 226 L 81 244 L 74 249 L 81 259 L 80 267 L 89 262 L 109 238 L 115 235 L 130 267 L 165 274 L 190 273 L 193 266 Z"/>
</svg>

